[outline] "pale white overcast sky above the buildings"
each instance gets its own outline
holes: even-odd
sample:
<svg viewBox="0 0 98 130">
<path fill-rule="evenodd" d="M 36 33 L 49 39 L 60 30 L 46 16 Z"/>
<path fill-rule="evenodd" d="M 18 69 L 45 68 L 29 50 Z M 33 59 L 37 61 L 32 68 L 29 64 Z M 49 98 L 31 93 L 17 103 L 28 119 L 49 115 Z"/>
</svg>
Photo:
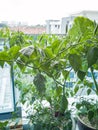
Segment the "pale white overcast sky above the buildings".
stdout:
<svg viewBox="0 0 98 130">
<path fill-rule="evenodd" d="M 0 0 L 0 22 L 45 24 L 83 10 L 98 11 L 98 0 Z"/>
</svg>

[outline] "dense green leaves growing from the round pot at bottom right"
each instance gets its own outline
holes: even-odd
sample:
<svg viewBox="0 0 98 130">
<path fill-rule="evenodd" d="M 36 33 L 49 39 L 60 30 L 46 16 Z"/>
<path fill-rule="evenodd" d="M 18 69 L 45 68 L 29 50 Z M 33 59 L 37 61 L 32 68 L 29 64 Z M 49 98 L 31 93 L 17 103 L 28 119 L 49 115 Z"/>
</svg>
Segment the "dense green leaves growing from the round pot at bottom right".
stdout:
<svg viewBox="0 0 98 130">
<path fill-rule="evenodd" d="M 98 101 L 97 100 L 94 100 L 92 98 L 91 99 L 80 98 L 79 102 L 77 102 L 76 104 L 76 108 L 78 109 L 78 115 L 81 117 L 81 119 L 83 119 L 87 124 L 89 124 L 89 126 L 93 126 L 95 129 L 98 128 L 98 124 L 97 124 Z"/>
</svg>

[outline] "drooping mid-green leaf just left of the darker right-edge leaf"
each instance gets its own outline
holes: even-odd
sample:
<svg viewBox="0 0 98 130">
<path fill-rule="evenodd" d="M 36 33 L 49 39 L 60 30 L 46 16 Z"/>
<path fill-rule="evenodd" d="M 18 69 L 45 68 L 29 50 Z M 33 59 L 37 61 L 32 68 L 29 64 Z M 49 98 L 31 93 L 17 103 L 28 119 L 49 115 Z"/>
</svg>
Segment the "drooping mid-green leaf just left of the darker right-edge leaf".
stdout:
<svg viewBox="0 0 98 130">
<path fill-rule="evenodd" d="M 69 62 L 76 72 L 81 68 L 81 58 L 77 54 L 70 54 Z"/>
</svg>

